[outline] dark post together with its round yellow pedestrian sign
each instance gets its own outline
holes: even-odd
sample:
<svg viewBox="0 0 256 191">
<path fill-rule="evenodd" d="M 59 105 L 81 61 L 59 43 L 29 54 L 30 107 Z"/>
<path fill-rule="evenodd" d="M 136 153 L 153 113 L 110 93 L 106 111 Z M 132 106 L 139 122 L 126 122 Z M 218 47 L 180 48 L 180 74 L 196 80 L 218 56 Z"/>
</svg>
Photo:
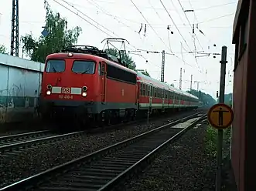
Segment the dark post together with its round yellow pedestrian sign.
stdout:
<svg viewBox="0 0 256 191">
<path fill-rule="evenodd" d="M 234 119 L 234 113 L 229 106 L 224 104 L 225 95 L 225 75 L 227 64 L 227 46 L 221 50 L 220 60 L 220 97 L 219 104 L 210 108 L 208 112 L 208 121 L 211 126 L 218 129 L 217 136 L 217 173 L 216 173 L 216 191 L 221 190 L 221 163 L 222 163 L 222 143 L 223 129 L 228 128 Z"/>
</svg>

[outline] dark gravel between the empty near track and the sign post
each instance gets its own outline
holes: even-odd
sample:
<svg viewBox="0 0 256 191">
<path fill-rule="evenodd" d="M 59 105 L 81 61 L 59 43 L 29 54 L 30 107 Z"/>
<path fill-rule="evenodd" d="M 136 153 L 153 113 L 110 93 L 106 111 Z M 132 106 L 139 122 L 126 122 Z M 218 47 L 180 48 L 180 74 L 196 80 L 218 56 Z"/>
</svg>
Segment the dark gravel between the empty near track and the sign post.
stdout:
<svg viewBox="0 0 256 191">
<path fill-rule="evenodd" d="M 190 129 L 123 190 L 214 190 L 216 160 L 204 152 L 206 128 Z"/>
</svg>

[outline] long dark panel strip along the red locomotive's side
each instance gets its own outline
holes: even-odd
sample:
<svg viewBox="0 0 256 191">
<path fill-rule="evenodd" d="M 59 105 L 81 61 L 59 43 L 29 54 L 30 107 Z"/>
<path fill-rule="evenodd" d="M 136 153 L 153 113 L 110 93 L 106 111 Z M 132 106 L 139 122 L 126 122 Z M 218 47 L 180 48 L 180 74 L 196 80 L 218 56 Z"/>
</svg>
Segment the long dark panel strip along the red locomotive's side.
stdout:
<svg viewBox="0 0 256 191">
<path fill-rule="evenodd" d="M 120 80 L 122 82 L 128 82 L 131 84 L 136 84 L 137 75 L 123 69 L 119 69 L 113 65 L 108 65 L 108 78 Z"/>
</svg>

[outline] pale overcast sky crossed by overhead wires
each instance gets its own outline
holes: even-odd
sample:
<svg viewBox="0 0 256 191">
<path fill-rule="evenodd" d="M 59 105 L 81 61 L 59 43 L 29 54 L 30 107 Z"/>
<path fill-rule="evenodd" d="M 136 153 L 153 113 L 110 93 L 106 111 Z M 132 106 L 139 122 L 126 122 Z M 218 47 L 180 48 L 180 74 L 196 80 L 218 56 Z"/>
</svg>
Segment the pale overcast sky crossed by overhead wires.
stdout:
<svg viewBox="0 0 256 191">
<path fill-rule="evenodd" d="M 5 6 L 0 7 L 0 45 L 5 45 L 9 50 L 12 1 L 1 0 L 1 2 Z M 43 2 L 44 0 L 19 0 L 19 38 L 29 33 L 35 38 L 41 35 L 46 16 Z M 192 88 L 209 93 L 213 98 L 216 98 L 216 92 L 220 89 L 220 55 L 216 55 L 214 59 L 213 53 L 220 54 L 221 47 L 225 45 L 227 46 L 225 93 L 233 91 L 232 28 L 237 1 L 48 0 L 48 2 L 53 12 L 60 12 L 61 17 L 67 18 L 68 28 L 75 26 L 82 28 L 77 45 L 93 45 L 98 49 L 104 49 L 107 46 L 101 43 L 103 39 L 126 39 L 128 41 L 125 42 L 126 51 L 133 51 L 130 55 L 137 69 L 147 70 L 152 78 L 159 80 L 162 50 L 165 50 L 165 82 L 173 83 L 179 88 L 182 68 L 183 90 L 190 89 L 191 75 L 193 75 Z M 139 33 L 141 25 L 143 27 Z M 121 43 L 114 45 L 121 47 Z M 206 56 L 207 54 L 202 52 L 210 55 Z M 22 44 L 19 56 L 22 57 Z"/>
</svg>

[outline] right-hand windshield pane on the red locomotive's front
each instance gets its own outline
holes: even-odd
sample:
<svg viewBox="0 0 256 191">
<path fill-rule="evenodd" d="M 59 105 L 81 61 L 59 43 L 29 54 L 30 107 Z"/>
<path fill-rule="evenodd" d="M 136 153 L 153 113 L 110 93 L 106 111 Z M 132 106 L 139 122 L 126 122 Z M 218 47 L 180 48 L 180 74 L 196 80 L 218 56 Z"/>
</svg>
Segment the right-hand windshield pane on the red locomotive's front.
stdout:
<svg viewBox="0 0 256 191">
<path fill-rule="evenodd" d="M 80 74 L 94 74 L 95 62 L 76 60 L 73 62 L 72 71 Z"/>
</svg>

